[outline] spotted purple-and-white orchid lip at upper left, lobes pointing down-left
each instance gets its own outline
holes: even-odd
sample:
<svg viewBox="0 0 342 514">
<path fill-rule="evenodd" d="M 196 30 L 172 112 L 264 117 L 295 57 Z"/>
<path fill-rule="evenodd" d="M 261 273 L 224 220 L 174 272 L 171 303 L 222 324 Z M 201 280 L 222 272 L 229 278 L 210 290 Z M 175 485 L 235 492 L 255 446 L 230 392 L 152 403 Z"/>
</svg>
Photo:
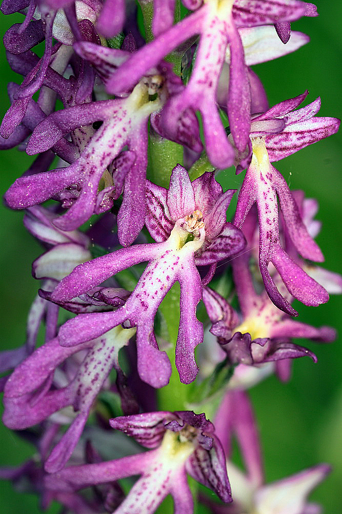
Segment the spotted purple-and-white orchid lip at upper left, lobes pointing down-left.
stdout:
<svg viewBox="0 0 342 514">
<path fill-rule="evenodd" d="M 100 180 L 104 179 L 105 189 L 114 189 L 113 179 L 106 168 L 128 144 L 130 151 L 114 163 L 114 172 L 121 184 L 125 181 L 126 192 L 118 216 L 119 238 L 124 244 L 131 243 L 142 228 L 145 217 L 147 120 L 159 107 L 159 99 L 149 102 L 148 87 L 138 84 L 126 99 L 85 103 L 53 113 L 35 128 L 27 146 L 28 153 L 48 150 L 76 127 L 99 120 L 103 123 L 71 166 L 18 178 L 6 193 L 8 205 L 19 209 L 34 205 L 76 184 L 80 190 L 78 199 L 66 214 L 55 219 L 54 224 L 63 230 L 79 227 L 94 212 Z M 118 188 L 116 197 L 120 193 Z"/>
</svg>

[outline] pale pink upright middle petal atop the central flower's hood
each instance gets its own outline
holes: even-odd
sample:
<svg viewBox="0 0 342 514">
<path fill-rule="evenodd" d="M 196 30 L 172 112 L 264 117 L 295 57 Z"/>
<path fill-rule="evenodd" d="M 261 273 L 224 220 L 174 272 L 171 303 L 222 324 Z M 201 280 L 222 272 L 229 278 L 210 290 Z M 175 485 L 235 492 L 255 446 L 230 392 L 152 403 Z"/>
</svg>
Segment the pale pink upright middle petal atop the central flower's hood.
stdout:
<svg viewBox="0 0 342 514">
<path fill-rule="evenodd" d="M 166 199 L 172 219 L 183 218 L 195 210 L 195 195 L 188 172 L 177 164 L 172 170 Z"/>
</svg>

